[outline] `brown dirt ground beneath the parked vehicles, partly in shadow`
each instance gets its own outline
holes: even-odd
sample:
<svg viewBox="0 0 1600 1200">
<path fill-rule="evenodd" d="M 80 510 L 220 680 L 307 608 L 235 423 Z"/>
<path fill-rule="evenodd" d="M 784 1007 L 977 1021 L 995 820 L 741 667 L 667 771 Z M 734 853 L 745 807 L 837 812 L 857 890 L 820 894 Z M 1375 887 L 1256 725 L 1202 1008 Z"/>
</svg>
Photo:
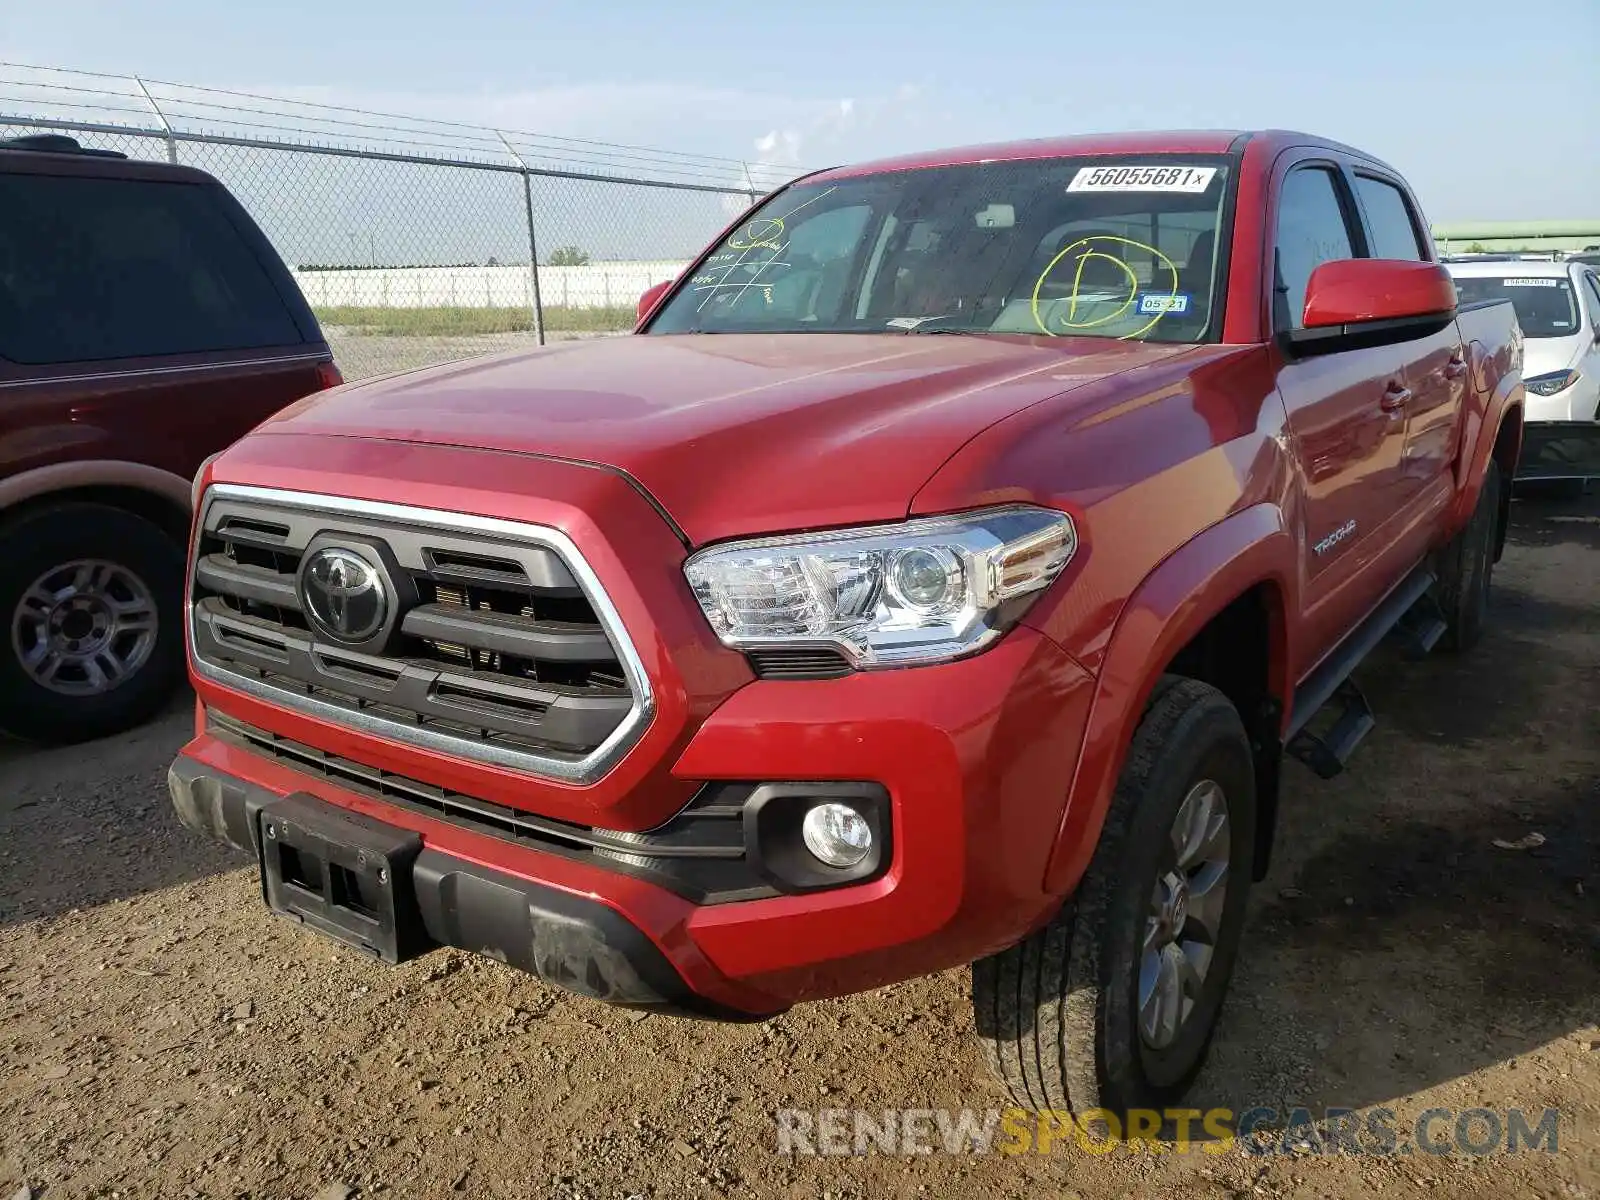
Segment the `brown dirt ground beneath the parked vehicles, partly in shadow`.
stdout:
<svg viewBox="0 0 1600 1200">
<path fill-rule="evenodd" d="M 1517 502 L 1475 653 L 1360 678 L 1379 728 L 1291 766 L 1192 1102 L 1557 1107 L 1555 1154 L 784 1155 L 778 1109 L 1005 1107 L 968 973 L 717 1026 L 378 966 L 178 826 L 176 706 L 0 746 L 0 1197 L 1600 1197 L 1600 496 Z"/>
</svg>

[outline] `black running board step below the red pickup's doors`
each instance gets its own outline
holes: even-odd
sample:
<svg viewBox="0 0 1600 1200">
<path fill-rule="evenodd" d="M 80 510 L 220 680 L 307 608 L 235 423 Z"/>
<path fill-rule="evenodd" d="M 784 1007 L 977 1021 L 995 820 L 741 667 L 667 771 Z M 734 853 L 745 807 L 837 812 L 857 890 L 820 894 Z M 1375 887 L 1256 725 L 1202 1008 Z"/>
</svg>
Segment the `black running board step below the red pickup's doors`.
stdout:
<svg viewBox="0 0 1600 1200">
<path fill-rule="evenodd" d="M 1371 706 L 1350 678 L 1352 672 L 1390 634 L 1402 640 L 1411 658 L 1421 658 L 1445 635 L 1445 621 L 1429 595 L 1432 587 L 1434 573 L 1419 566 L 1296 688 L 1283 749 L 1323 779 L 1339 774 L 1355 747 L 1378 725 Z M 1333 720 L 1312 730 L 1317 714 L 1334 704 Z"/>
</svg>

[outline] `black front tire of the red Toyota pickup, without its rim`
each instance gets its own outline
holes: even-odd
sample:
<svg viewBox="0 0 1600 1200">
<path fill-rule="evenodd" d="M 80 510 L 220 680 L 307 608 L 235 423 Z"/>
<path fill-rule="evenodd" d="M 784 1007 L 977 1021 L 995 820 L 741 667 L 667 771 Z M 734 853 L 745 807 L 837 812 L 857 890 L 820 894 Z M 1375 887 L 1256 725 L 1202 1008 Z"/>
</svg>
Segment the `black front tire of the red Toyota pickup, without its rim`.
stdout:
<svg viewBox="0 0 1600 1200">
<path fill-rule="evenodd" d="M 1165 1050 L 1139 1030 L 1139 960 L 1163 851 L 1186 797 L 1226 795 L 1229 861 L 1198 997 Z M 1077 894 L 1038 933 L 973 965 L 990 1067 L 1030 1110 L 1166 1109 L 1205 1066 L 1238 955 L 1251 882 L 1256 782 L 1238 712 L 1216 688 L 1168 677 L 1134 734 Z"/>
</svg>

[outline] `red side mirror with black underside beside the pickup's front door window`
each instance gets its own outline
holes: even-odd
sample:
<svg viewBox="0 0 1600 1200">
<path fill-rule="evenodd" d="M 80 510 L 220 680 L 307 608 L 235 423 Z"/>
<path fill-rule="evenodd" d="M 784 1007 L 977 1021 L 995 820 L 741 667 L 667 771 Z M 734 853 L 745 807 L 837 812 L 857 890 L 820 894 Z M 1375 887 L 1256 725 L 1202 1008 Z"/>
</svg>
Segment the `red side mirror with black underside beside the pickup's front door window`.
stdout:
<svg viewBox="0 0 1600 1200">
<path fill-rule="evenodd" d="M 1437 262 L 1347 258 L 1323 262 L 1306 285 L 1296 354 L 1387 346 L 1438 333 L 1456 318 L 1456 283 Z"/>
</svg>

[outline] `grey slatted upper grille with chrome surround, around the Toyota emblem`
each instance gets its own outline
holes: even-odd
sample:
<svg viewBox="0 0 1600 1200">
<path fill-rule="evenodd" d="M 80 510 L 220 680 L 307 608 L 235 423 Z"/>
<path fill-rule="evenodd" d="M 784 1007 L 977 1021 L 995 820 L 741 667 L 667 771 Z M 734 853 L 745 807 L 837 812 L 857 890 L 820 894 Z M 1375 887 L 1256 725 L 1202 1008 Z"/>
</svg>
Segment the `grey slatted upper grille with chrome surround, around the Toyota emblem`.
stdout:
<svg viewBox="0 0 1600 1200">
<path fill-rule="evenodd" d="M 318 632 L 298 574 L 312 542 L 384 566 L 397 618 L 368 645 Z M 219 485 L 194 573 L 197 667 L 379 736 L 589 782 L 637 739 L 650 688 L 563 534 L 403 506 Z"/>
</svg>

